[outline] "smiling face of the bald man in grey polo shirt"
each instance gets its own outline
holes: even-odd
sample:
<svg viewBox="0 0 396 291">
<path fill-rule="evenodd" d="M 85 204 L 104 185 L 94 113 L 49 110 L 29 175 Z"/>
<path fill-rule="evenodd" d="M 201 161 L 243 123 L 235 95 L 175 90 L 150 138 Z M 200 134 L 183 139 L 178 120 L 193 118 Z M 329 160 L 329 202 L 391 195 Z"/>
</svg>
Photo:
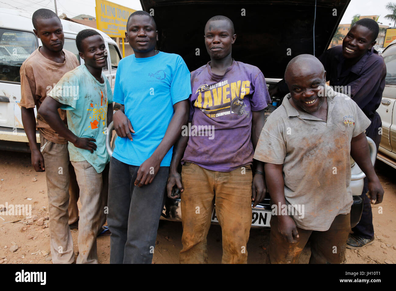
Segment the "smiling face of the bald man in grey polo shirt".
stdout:
<svg viewBox="0 0 396 291">
<path fill-rule="evenodd" d="M 324 102 L 323 92 L 326 83 L 326 71 L 320 63 L 312 60 L 297 61 L 285 77 L 291 99 L 297 109 L 308 113 L 320 109 Z"/>
</svg>

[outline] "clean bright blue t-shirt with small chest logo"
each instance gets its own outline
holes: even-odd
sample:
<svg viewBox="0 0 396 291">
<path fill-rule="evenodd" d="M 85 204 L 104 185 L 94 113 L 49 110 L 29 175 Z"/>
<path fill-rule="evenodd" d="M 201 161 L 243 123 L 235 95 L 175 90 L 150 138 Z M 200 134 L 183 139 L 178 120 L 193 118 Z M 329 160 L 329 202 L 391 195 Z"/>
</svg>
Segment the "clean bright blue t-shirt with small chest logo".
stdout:
<svg viewBox="0 0 396 291">
<path fill-rule="evenodd" d="M 125 115 L 135 133 L 133 141 L 118 137 L 113 157 L 128 165 L 140 166 L 150 158 L 164 138 L 173 117 L 173 105 L 191 94 L 190 72 L 173 53 L 136 58 L 125 57 L 118 63 L 113 101 L 125 105 Z M 169 166 L 172 148 L 161 166 Z"/>
</svg>

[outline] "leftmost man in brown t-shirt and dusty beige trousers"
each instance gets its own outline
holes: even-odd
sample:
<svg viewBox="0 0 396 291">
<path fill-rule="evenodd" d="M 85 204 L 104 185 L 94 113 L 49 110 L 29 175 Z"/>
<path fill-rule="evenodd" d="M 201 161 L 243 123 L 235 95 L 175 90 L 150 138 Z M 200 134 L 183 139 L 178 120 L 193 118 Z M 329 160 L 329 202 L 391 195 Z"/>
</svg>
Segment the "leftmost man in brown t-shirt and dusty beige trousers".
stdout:
<svg viewBox="0 0 396 291">
<path fill-rule="evenodd" d="M 63 49 L 65 40 L 62 24 L 53 11 L 36 10 L 32 22 L 33 31 L 43 45 L 21 66 L 22 123 L 32 152 L 32 165 L 37 172 L 46 172 L 52 262 L 67 264 L 74 261 L 68 223 L 70 162 L 67 140 L 51 129 L 40 114 L 37 114 L 36 124 L 34 107 L 38 109 L 54 84 L 66 72 L 78 67 L 79 63 L 73 53 Z M 67 125 L 65 111 L 59 110 L 59 115 Z M 41 149 L 36 144 L 36 127 L 40 132 Z"/>
</svg>

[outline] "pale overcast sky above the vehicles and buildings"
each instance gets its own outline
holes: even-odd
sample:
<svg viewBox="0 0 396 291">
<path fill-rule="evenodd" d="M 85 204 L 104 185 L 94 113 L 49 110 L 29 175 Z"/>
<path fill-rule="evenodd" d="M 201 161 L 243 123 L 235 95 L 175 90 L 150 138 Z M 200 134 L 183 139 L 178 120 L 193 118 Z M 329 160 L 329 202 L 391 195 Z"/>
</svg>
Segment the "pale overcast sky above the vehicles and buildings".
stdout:
<svg viewBox="0 0 396 291">
<path fill-rule="evenodd" d="M 113 0 L 120 4 L 135 10 L 141 10 L 139 0 Z M 392 21 L 386 20 L 384 16 L 388 14 L 385 5 L 390 0 L 351 0 L 345 11 L 341 23 L 350 23 L 352 16 L 360 15 L 380 15 L 379 21 L 383 25 L 389 25 Z M 396 0 L 393 2 L 396 3 Z M 48 8 L 55 11 L 54 0 L 0 0 L 0 7 L 9 9 L 20 9 L 34 12 L 38 8 Z M 79 14 L 89 14 L 95 16 L 95 0 L 57 0 L 58 15 L 65 13 L 68 17 L 74 17 Z M 393 25 L 393 23 L 392 23 Z"/>
</svg>

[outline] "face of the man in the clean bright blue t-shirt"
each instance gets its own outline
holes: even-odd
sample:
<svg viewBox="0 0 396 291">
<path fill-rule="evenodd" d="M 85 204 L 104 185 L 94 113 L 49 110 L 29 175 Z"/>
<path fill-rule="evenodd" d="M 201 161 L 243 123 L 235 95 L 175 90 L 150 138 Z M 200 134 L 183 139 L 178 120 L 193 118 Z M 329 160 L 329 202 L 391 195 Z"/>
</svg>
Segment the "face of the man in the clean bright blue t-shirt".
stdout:
<svg viewBox="0 0 396 291">
<path fill-rule="evenodd" d="M 130 19 L 127 29 L 125 37 L 135 54 L 154 51 L 158 41 L 158 31 L 151 17 L 135 15 Z"/>
</svg>

